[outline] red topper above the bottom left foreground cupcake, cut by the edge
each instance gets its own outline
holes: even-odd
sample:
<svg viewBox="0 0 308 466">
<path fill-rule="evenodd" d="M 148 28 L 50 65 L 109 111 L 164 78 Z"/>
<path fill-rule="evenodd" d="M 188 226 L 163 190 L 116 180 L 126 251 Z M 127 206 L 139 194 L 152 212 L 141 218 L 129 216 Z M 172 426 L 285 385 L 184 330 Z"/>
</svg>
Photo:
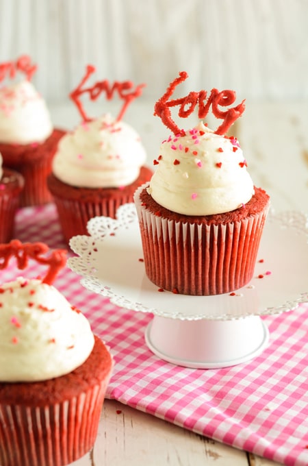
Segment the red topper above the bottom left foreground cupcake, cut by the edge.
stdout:
<svg viewBox="0 0 308 466">
<path fill-rule="evenodd" d="M 21 243 L 13 239 L 8 244 L 0 244 L 0 270 L 8 267 L 11 257 L 16 258 L 18 269 L 25 269 L 29 258 L 36 260 L 39 264 L 48 265 L 49 269 L 43 283 L 52 284 L 56 275 L 66 265 L 66 250 L 55 249 L 49 257 L 42 257 L 49 250 L 44 243 Z"/>
</svg>

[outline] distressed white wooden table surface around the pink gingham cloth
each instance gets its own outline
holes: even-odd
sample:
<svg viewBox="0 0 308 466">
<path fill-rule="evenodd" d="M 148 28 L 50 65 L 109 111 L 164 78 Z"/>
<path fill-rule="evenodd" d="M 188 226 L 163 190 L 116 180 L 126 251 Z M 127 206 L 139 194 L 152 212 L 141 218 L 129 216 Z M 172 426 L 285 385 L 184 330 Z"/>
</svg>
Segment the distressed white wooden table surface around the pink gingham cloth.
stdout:
<svg viewBox="0 0 308 466">
<path fill-rule="evenodd" d="M 137 106 L 137 104 L 136 104 Z M 153 116 L 153 103 L 139 103 L 126 121 L 136 127 L 149 154 L 157 156 L 166 128 Z M 51 106 L 55 124 L 78 122 L 70 103 Z M 235 124 L 257 186 L 272 208 L 308 213 L 308 101 L 249 103 Z M 96 445 L 75 466 L 273 466 L 279 463 L 236 450 L 114 400 L 105 400 Z"/>
</svg>

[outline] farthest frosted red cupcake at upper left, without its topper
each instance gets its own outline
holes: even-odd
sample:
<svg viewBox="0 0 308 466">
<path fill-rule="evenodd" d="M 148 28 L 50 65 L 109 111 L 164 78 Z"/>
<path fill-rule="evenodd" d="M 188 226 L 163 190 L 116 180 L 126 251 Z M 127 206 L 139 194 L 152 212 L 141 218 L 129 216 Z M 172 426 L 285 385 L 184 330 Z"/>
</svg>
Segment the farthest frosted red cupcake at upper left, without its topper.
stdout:
<svg viewBox="0 0 308 466">
<path fill-rule="evenodd" d="M 46 179 L 63 135 L 53 127 L 46 103 L 31 82 L 0 88 L 0 152 L 5 167 L 25 179 L 22 206 L 51 201 Z"/>
</svg>

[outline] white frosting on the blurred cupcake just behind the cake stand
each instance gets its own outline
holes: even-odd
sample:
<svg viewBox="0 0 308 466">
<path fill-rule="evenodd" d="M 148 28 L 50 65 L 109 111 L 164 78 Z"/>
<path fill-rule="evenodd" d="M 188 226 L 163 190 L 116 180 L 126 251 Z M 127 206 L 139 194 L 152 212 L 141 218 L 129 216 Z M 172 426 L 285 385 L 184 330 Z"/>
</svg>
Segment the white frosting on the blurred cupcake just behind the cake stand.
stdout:
<svg viewBox="0 0 308 466">
<path fill-rule="evenodd" d="M 110 114 L 82 123 L 66 134 L 53 158 L 53 174 L 84 188 L 112 188 L 133 183 L 146 161 L 138 133 Z"/>
</svg>

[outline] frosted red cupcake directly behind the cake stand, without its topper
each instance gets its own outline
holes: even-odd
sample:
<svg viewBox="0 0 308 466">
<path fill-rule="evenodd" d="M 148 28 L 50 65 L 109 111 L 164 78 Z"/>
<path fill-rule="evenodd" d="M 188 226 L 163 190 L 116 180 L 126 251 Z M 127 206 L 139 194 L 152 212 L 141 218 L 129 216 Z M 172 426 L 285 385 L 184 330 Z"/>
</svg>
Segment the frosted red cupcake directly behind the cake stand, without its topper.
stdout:
<svg viewBox="0 0 308 466">
<path fill-rule="evenodd" d="M 140 136 L 130 125 L 105 114 L 81 123 L 60 141 L 48 178 L 64 238 L 87 234 L 92 217 L 116 217 L 151 179 Z"/>
</svg>

